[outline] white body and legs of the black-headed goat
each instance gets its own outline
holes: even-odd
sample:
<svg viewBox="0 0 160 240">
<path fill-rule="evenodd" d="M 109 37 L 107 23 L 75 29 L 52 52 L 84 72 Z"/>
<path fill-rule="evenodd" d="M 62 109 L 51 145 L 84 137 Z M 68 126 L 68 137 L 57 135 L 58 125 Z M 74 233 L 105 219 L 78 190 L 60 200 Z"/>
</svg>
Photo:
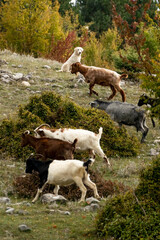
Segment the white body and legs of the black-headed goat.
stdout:
<svg viewBox="0 0 160 240">
<path fill-rule="evenodd" d="M 91 161 L 93 162 L 94 160 L 91 159 Z M 54 160 L 49 165 L 47 181 L 44 183 L 41 189 L 38 189 L 37 194 L 32 202 L 35 202 L 38 199 L 40 193 L 42 193 L 47 183 L 55 185 L 55 195 L 58 195 L 59 186 L 68 186 L 76 183 L 82 192 L 79 202 L 85 201 L 87 192 L 87 189 L 84 186 L 85 184 L 93 189 L 94 196 L 99 198 L 96 184 L 90 180 L 89 174 L 86 172 L 85 167 L 83 166 L 83 162 L 79 160 Z"/>
</svg>

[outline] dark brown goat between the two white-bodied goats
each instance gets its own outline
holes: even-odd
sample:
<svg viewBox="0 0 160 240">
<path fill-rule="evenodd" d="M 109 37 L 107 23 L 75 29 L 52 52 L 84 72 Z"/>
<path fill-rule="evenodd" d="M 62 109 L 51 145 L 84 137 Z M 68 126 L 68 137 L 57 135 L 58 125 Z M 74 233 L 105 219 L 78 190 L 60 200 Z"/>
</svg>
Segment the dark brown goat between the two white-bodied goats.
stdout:
<svg viewBox="0 0 160 240">
<path fill-rule="evenodd" d="M 77 139 L 73 143 L 69 143 L 60 139 L 50 138 L 36 138 L 29 134 L 29 131 L 22 133 L 21 146 L 25 147 L 30 145 L 33 147 L 37 154 L 43 156 L 43 160 L 47 158 L 66 160 L 73 159 Z"/>
</svg>

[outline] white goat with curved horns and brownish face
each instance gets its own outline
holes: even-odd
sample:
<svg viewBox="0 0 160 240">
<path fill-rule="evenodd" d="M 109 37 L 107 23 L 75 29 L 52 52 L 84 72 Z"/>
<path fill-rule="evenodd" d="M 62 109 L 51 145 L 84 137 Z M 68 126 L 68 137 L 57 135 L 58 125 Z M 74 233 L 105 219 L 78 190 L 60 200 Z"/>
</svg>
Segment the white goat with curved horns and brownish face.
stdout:
<svg viewBox="0 0 160 240">
<path fill-rule="evenodd" d="M 89 150 L 90 157 L 95 158 L 95 153 L 102 157 L 110 166 L 109 159 L 104 154 L 101 146 L 100 139 L 102 136 L 103 128 L 99 128 L 99 133 L 84 130 L 84 129 L 71 129 L 71 128 L 60 128 L 51 129 L 45 126 L 45 124 L 37 127 L 34 132 L 36 137 L 48 137 L 57 138 L 67 142 L 73 142 L 77 138 L 76 150 L 85 151 Z"/>
</svg>

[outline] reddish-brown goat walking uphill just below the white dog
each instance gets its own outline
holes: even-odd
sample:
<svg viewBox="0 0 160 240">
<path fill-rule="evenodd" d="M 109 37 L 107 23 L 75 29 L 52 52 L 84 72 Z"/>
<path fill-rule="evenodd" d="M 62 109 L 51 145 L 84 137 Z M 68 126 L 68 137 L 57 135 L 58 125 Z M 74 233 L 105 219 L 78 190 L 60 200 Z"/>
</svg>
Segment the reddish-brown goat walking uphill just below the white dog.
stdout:
<svg viewBox="0 0 160 240">
<path fill-rule="evenodd" d="M 71 73 L 77 74 L 78 72 L 80 72 L 85 77 L 85 81 L 89 83 L 90 96 L 92 93 L 98 96 L 98 93 L 93 90 L 94 85 L 98 84 L 101 86 L 109 86 L 111 88 L 112 94 L 109 96 L 108 100 L 111 100 L 118 91 L 122 96 L 122 101 L 125 102 L 126 97 L 124 91 L 120 87 L 120 81 L 122 78 L 127 78 L 127 74 L 120 75 L 109 69 L 92 66 L 89 67 L 82 65 L 79 62 L 73 63 L 71 65 Z"/>
</svg>

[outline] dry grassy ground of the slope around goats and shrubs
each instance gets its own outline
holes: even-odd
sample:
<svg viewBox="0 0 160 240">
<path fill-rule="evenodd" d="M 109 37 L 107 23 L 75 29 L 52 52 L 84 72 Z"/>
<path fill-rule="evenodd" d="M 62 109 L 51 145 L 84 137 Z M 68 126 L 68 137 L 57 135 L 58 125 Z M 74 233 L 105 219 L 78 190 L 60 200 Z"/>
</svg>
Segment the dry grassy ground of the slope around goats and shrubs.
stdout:
<svg viewBox="0 0 160 240">
<path fill-rule="evenodd" d="M 0 58 L 8 62 L 7 65 L 2 65 L 0 69 L 12 73 L 21 72 L 25 75 L 31 73 L 33 76 L 32 80 L 34 80 L 29 88 L 23 87 L 20 81 L 12 84 L 0 81 L 0 121 L 5 117 L 13 115 L 16 117 L 18 105 L 27 103 L 29 97 L 37 92 L 55 90 L 60 94 L 68 95 L 76 103 L 84 107 L 89 107 L 89 102 L 95 99 L 95 96 L 88 97 L 87 84 L 77 84 L 75 76 L 69 73 L 57 73 L 55 70 L 60 68 L 60 64 L 57 62 L 33 59 L 29 56 L 19 56 L 11 54 L 9 51 L 0 52 Z M 13 67 L 13 65 L 18 66 L 20 64 L 22 68 Z M 43 68 L 44 65 L 49 65 L 51 69 Z M 104 100 L 110 94 L 109 88 L 95 86 L 95 89 Z M 140 86 L 126 82 L 123 89 L 126 92 L 127 101 L 137 104 L 138 97 L 143 93 Z M 120 94 L 117 94 L 114 100 L 121 100 Z M 147 124 L 150 127 L 150 131 L 146 138 L 146 143 L 142 144 L 140 155 L 137 158 L 112 158 L 112 171 L 108 171 L 102 161 L 101 164 L 99 164 L 99 161 L 96 161 L 93 166 L 94 169 L 100 171 L 106 179 L 118 180 L 135 187 L 138 183 L 139 170 L 152 161 L 152 157 L 149 156 L 150 149 L 159 148 L 158 144 L 154 144 L 154 140 L 159 136 L 158 126 L 153 129 L 150 119 L 147 119 Z M 136 134 L 134 128 L 127 127 L 127 129 L 130 134 Z M 138 138 L 141 139 L 141 133 L 138 133 Z M 19 163 L 16 159 L 9 159 L 5 155 L 0 157 L 0 196 L 5 196 L 12 192 L 13 178 L 24 172 L 24 166 L 24 163 Z M 25 200 L 13 197 L 11 199 L 15 203 Z M 103 201 L 101 204 L 103 205 Z M 4 213 L 4 208 L 0 207 L 0 215 L 3 216 L 0 218 L 0 239 L 96 239 L 94 234 L 90 233 L 91 236 L 87 234 L 88 231 L 92 232 L 94 230 L 96 213 L 84 213 L 79 210 L 80 207 L 77 203 L 71 203 L 69 206 L 60 206 L 63 210 L 71 211 L 71 216 L 60 215 L 59 213 L 49 215 L 47 206 L 40 203 L 31 207 L 22 206 L 15 208 L 24 209 L 29 214 L 8 216 Z M 20 233 L 18 231 L 20 223 L 28 224 L 33 230 L 30 233 Z"/>
</svg>

